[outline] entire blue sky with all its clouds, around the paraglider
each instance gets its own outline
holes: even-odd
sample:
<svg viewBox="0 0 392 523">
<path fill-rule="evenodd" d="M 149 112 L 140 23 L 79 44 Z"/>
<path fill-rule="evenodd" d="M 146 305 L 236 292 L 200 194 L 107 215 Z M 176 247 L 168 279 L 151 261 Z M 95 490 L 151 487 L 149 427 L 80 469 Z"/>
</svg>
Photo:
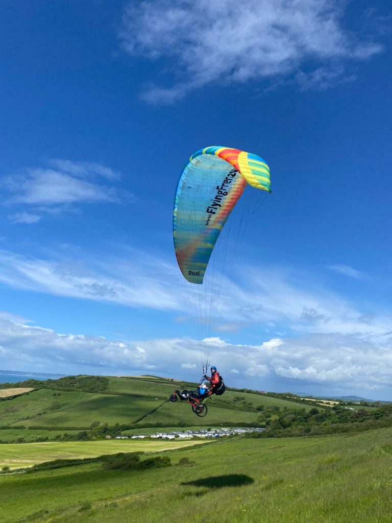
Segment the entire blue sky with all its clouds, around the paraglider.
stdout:
<svg viewBox="0 0 392 523">
<path fill-rule="evenodd" d="M 234 386 L 391 399 L 387 2 L 0 11 L 0 368 L 198 379 L 172 201 L 187 158 L 226 145 L 266 158 L 272 194 L 213 362 Z"/>
</svg>

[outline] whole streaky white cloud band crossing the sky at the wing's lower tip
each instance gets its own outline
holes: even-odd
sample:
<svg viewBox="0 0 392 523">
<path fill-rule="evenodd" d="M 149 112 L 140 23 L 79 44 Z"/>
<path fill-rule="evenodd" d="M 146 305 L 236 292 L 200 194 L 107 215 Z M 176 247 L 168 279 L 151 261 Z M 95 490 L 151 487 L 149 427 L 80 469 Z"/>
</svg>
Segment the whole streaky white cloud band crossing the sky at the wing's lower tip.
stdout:
<svg viewBox="0 0 392 523">
<path fill-rule="evenodd" d="M 166 263 L 134 249 L 124 253 L 121 246 L 111 251 L 118 252 L 118 257 L 78 251 L 77 257 L 84 259 L 83 264 L 67 258 L 64 252 L 43 259 L 0 251 L 0 281 L 18 289 L 176 311 L 174 323 L 179 322 L 179 317 L 181 322 L 188 318 L 189 328 L 193 325 L 199 335 L 210 334 L 203 343 L 211 347 L 226 344 L 214 334 L 224 325 L 222 319 L 228 317 L 232 323 L 248 327 L 262 325 L 265 332 L 274 335 L 264 350 L 283 343 L 279 334 L 282 329 L 296 334 L 338 332 L 374 342 L 382 342 L 386 333 L 392 331 L 391 311 L 379 310 L 371 299 L 363 310 L 318 285 L 309 271 L 301 276 L 298 270 L 293 275 L 287 270 L 264 267 L 260 277 L 258 269 L 246 267 L 246 279 L 240 283 L 223 281 L 222 289 L 226 290 L 217 298 L 214 292 L 199 294 L 197 286 L 186 285 L 175 261 Z M 209 323 L 210 306 L 218 306 L 220 313 Z M 195 315 L 193 308 L 197 310 Z"/>
</svg>

